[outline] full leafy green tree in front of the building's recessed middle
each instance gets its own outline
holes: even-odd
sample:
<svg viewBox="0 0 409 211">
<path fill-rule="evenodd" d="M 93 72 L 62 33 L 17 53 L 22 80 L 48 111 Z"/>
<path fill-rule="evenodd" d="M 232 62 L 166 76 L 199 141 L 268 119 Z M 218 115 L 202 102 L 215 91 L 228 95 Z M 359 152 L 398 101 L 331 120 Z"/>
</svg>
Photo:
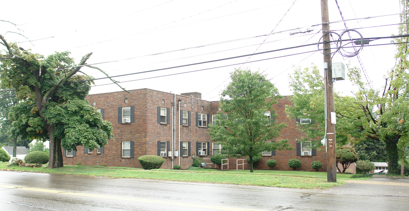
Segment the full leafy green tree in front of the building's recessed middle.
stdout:
<svg viewBox="0 0 409 211">
<path fill-rule="evenodd" d="M 236 70 L 231 83 L 222 91 L 216 123 L 211 124 L 209 134 L 213 141 L 222 144 L 231 157 L 248 156 L 250 172 L 253 157 L 265 150 L 290 149 L 288 140 L 267 142 L 278 137 L 285 123 L 276 123 L 272 105 L 280 98 L 277 88 L 264 75 L 250 70 Z M 271 116 L 265 112 L 271 110 Z M 227 115 L 227 118 L 226 118 Z"/>
</svg>

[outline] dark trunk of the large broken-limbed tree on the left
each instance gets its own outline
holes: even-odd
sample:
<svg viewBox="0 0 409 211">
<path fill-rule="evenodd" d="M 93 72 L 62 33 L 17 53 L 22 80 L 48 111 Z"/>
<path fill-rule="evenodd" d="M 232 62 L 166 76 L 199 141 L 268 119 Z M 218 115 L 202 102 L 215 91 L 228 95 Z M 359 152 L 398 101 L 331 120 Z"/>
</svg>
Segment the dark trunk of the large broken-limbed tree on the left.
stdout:
<svg viewBox="0 0 409 211">
<path fill-rule="evenodd" d="M 61 151 L 61 139 L 53 136 L 54 126 L 47 125 L 48 137 L 49 137 L 49 159 L 48 168 L 60 168 L 63 167 L 63 153 Z"/>
</svg>

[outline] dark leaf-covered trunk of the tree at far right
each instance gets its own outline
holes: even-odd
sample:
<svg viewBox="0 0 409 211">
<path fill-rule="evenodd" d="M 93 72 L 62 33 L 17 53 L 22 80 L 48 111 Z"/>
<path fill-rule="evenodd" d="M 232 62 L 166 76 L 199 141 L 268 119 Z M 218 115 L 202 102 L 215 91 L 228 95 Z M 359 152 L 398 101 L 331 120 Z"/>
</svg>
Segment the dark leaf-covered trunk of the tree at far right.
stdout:
<svg viewBox="0 0 409 211">
<path fill-rule="evenodd" d="M 398 138 L 396 135 L 385 137 L 385 146 L 388 155 L 388 173 L 400 174 L 398 168 Z"/>
</svg>

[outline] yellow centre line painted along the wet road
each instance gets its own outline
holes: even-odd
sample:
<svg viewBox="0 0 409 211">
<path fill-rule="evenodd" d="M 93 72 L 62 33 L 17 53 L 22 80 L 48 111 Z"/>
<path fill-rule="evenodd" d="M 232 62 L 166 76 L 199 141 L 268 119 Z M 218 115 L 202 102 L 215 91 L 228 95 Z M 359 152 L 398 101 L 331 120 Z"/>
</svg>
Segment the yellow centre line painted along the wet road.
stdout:
<svg viewBox="0 0 409 211">
<path fill-rule="evenodd" d="M 48 192 L 48 193 L 59 193 L 59 194 L 65 194 L 65 195 L 85 196 L 85 197 L 93 197 L 93 198 L 105 198 L 105 199 L 126 200 L 126 201 L 134 201 L 134 202 L 147 202 L 147 203 L 156 203 L 156 204 L 169 204 L 169 205 L 178 205 L 178 206 L 185 206 L 185 207 L 198 207 L 198 208 L 206 208 L 206 209 L 217 209 L 217 210 L 228 210 L 228 211 L 261 211 L 261 210 L 255 210 L 255 209 L 244 209 L 244 208 L 235 208 L 235 207 L 220 207 L 220 206 L 214 206 L 214 205 L 209 205 L 209 204 L 191 204 L 191 203 L 183 203 L 183 202 L 170 202 L 170 201 L 151 200 L 151 199 L 142 199 L 142 198 L 129 198 L 129 197 L 110 196 L 110 195 L 96 195 L 96 194 L 89 194 L 89 193 L 54 191 L 54 190 L 49 190 L 49 189 L 19 187 L 19 186 L 10 186 L 10 185 L 2 185 L 2 184 L 0 184 L 0 187 L 9 188 L 9 189 L 12 189 L 12 188 L 22 189 L 22 190 L 27 190 L 27 191 L 40 191 L 40 192 Z"/>
</svg>

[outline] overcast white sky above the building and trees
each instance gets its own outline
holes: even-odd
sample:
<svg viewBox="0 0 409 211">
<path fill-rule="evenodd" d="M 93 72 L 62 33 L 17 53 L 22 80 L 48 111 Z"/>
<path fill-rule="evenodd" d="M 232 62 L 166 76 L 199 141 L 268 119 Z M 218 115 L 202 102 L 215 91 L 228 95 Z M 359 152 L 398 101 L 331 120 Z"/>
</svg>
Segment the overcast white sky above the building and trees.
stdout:
<svg viewBox="0 0 409 211">
<path fill-rule="evenodd" d="M 77 62 L 83 55 L 93 52 L 88 64 L 101 63 L 94 66 L 100 67 L 110 76 L 116 76 L 252 54 L 255 51 L 264 52 L 317 43 L 322 35 L 319 32 L 321 25 L 317 25 L 321 23 L 320 2 L 320 0 L 4 1 L 0 20 L 13 22 L 17 26 L 0 22 L 0 34 L 9 42 L 25 42 L 27 39 L 18 34 L 6 34 L 7 31 L 18 32 L 29 40 L 36 40 L 31 43 L 20 43 L 21 47 L 31 48 L 35 53 L 49 55 L 54 51 L 68 50 L 72 52 Z M 346 20 L 400 12 L 399 0 L 338 2 Z M 342 20 L 335 0 L 328 0 L 328 3 L 330 22 Z M 399 22 L 399 16 L 393 15 L 348 20 L 346 24 L 349 29 L 371 27 L 357 29 L 364 38 L 370 38 L 397 34 L 397 25 L 375 26 Z M 286 31 L 290 29 L 294 30 Z M 314 30 L 305 34 L 290 35 L 306 29 Z M 331 24 L 330 29 L 341 33 L 345 27 L 339 22 Z M 262 36 L 271 31 L 285 32 L 268 37 Z M 252 38 L 255 36 L 259 37 Z M 353 34 L 353 38 L 357 37 L 357 34 Z M 222 43 L 241 38 L 248 39 Z M 390 42 L 391 39 L 381 39 L 370 44 Z M 209 45 L 214 43 L 220 44 Z M 260 46 L 260 43 L 263 44 Z M 190 47 L 197 48 L 185 49 Z M 220 99 L 219 93 L 225 89 L 229 82 L 229 74 L 234 68 L 248 67 L 251 70 L 265 71 L 264 74 L 267 74 L 268 79 L 272 79 L 271 82 L 279 88 L 280 93 L 289 95 L 291 92 L 287 83 L 288 74 L 298 66 L 310 67 L 311 63 L 321 68 L 323 56 L 319 52 L 286 55 L 315 49 L 317 46 L 313 45 L 251 58 L 247 56 L 114 79 L 120 82 L 144 79 L 120 83 L 127 90 L 151 88 L 176 94 L 201 92 L 203 99 L 215 101 Z M 382 75 L 387 74 L 394 66 L 395 49 L 394 45 L 384 45 L 364 47 L 360 52 L 362 65 L 375 88 L 381 88 L 384 83 Z M 157 54 L 163 52 L 169 53 Z M 157 55 L 146 56 L 150 54 Z M 278 56 L 285 57 L 274 58 Z M 255 62 L 265 58 L 273 59 Z M 108 61 L 117 62 L 103 63 Z M 251 63 L 234 65 L 245 61 Z M 347 59 L 336 54 L 333 62 L 351 62 L 352 66 L 360 67 L 357 57 Z M 231 66 L 220 67 L 224 65 Z M 220 68 L 202 70 L 213 67 Z M 95 78 L 104 77 L 95 69 L 83 67 L 81 70 Z M 145 79 L 194 70 L 202 71 Z M 101 86 L 92 88 L 91 94 L 120 91 L 116 85 L 102 85 L 112 83 L 109 79 L 97 80 L 95 83 Z M 335 84 L 336 91 L 348 92 L 350 87 L 348 83 L 338 81 Z"/>
</svg>

